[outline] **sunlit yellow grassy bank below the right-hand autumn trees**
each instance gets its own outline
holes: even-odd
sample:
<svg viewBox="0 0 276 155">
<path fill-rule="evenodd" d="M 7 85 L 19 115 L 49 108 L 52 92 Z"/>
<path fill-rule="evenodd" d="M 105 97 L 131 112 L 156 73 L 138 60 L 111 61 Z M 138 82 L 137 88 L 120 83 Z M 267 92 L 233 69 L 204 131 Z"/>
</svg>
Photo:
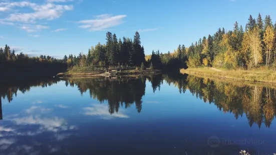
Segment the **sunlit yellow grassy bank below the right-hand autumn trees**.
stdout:
<svg viewBox="0 0 276 155">
<path fill-rule="evenodd" d="M 276 72 L 273 70 L 225 70 L 219 68 L 200 67 L 180 69 L 181 73 L 197 74 L 202 76 L 228 78 L 234 80 L 246 80 L 254 82 L 276 83 Z"/>
</svg>

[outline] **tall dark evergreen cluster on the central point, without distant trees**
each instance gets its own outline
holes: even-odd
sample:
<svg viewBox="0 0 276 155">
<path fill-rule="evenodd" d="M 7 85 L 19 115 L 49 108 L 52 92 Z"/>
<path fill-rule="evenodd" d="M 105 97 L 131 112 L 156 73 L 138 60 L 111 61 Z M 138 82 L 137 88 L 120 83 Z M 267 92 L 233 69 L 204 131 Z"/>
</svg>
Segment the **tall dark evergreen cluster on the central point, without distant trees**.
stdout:
<svg viewBox="0 0 276 155">
<path fill-rule="evenodd" d="M 117 38 L 115 33 L 106 33 L 106 42 L 100 42 L 88 49 L 88 53 L 79 53 L 78 56 L 65 55 L 63 60 L 69 68 L 76 67 L 103 67 L 110 66 L 141 66 L 145 65 L 144 46 L 141 45 L 138 31 L 132 38 Z"/>
</svg>

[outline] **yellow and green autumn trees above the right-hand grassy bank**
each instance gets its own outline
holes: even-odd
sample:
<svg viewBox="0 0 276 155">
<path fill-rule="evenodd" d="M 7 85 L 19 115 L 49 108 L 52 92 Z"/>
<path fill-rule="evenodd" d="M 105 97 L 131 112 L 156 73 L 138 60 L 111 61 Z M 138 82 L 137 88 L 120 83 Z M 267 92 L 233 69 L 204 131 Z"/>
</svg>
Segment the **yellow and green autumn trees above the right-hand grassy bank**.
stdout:
<svg viewBox="0 0 276 155">
<path fill-rule="evenodd" d="M 259 66 L 276 66 L 276 23 L 270 15 L 264 20 L 249 16 L 243 29 L 236 21 L 233 30 L 218 28 L 208 37 L 192 43 L 185 55 L 188 67 L 214 66 L 220 68 L 250 69 Z M 179 45 L 180 46 L 180 45 Z M 179 47 L 178 47 L 179 48 Z"/>
</svg>

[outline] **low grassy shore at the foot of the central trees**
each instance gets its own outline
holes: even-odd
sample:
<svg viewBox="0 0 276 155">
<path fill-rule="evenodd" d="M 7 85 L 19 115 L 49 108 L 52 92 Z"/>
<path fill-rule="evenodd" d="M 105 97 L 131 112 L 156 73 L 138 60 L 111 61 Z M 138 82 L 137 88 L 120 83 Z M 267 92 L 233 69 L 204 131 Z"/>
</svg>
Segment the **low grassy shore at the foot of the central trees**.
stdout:
<svg viewBox="0 0 276 155">
<path fill-rule="evenodd" d="M 110 75 L 152 75 L 152 74 L 158 74 L 160 73 L 160 70 L 157 69 L 145 69 L 145 70 L 122 70 L 118 71 L 117 73 L 106 73 L 104 71 L 68 71 L 68 72 L 62 72 L 58 73 L 58 76 L 60 77 L 80 77 L 80 76 L 110 76 Z"/>
</svg>

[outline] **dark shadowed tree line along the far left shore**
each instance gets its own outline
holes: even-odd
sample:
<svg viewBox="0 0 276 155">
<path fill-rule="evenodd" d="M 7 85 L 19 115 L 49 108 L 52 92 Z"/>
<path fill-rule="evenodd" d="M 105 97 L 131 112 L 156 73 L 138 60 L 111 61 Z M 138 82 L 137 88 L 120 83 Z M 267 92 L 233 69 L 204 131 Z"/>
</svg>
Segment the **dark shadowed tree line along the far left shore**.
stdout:
<svg viewBox="0 0 276 155">
<path fill-rule="evenodd" d="M 15 53 L 9 45 L 0 48 L 0 79 L 32 78 L 53 76 L 66 71 L 67 64 L 63 59 L 41 55 L 29 57 L 27 54 Z"/>
</svg>

